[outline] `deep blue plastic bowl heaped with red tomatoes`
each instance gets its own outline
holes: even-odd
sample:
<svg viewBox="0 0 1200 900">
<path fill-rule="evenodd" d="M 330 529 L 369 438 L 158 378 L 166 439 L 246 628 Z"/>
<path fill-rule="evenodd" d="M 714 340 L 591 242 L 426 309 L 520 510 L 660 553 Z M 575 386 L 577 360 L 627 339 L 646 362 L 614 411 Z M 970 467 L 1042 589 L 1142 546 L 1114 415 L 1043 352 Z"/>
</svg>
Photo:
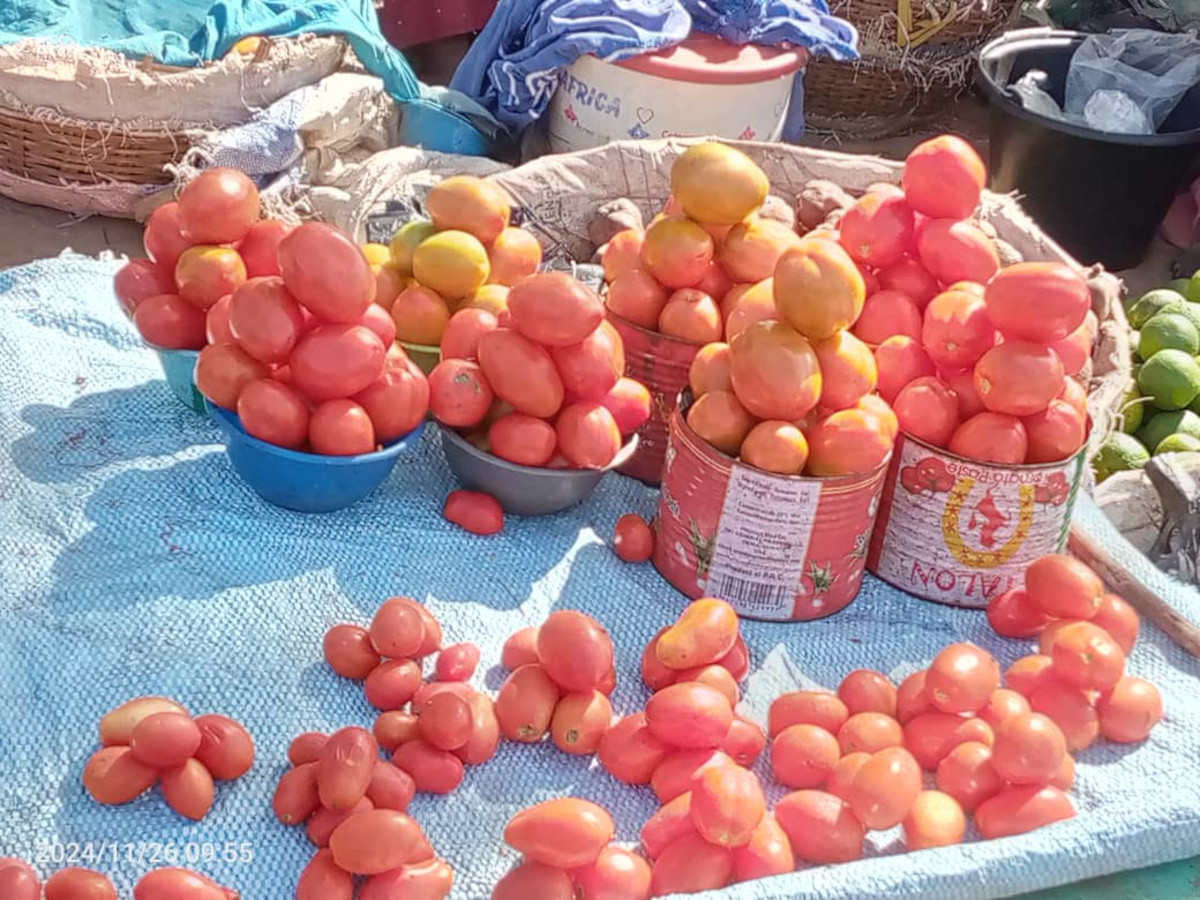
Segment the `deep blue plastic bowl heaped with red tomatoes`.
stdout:
<svg viewBox="0 0 1200 900">
<path fill-rule="evenodd" d="M 226 436 L 234 470 L 264 500 L 296 512 L 332 512 L 358 503 L 388 479 L 397 457 L 416 444 L 425 430 L 421 422 L 373 454 L 318 456 L 251 437 L 228 409 L 212 403 L 208 408 Z"/>
</svg>

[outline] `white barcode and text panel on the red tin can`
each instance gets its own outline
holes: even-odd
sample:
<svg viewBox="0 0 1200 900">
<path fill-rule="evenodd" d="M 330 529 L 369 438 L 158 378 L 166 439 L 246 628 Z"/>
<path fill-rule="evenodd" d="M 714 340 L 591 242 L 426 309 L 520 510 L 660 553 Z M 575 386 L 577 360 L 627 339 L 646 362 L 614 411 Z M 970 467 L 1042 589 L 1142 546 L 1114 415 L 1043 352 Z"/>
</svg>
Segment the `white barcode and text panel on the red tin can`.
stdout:
<svg viewBox="0 0 1200 900">
<path fill-rule="evenodd" d="M 764 619 L 791 618 L 821 485 L 733 466 L 706 592 Z"/>
</svg>

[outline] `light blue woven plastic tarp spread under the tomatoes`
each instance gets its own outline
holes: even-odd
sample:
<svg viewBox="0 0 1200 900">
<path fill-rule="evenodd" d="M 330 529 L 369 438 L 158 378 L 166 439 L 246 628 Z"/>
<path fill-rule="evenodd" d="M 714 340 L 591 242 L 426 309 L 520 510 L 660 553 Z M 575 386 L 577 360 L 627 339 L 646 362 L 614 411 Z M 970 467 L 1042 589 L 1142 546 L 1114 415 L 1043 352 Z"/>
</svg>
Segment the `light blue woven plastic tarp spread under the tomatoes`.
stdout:
<svg viewBox="0 0 1200 900">
<path fill-rule="evenodd" d="M 168 391 L 112 300 L 114 270 L 68 256 L 0 272 L 0 856 L 37 859 L 43 872 L 64 857 L 90 864 L 122 896 L 164 857 L 200 857 L 193 868 L 250 900 L 292 896 L 312 847 L 270 808 L 287 745 L 373 719 L 361 688 L 323 662 L 322 636 L 368 620 L 392 594 L 426 601 L 448 641 L 476 641 L 476 684 L 491 691 L 509 634 L 558 607 L 586 610 L 617 642 L 617 710 L 643 706 L 641 648 L 684 600 L 650 565 L 617 562 L 604 538 L 619 515 L 652 514 L 653 491 L 608 476 L 576 510 L 475 538 L 439 516 L 454 484 L 431 428 L 353 509 L 308 517 L 266 506 L 232 472 L 211 424 Z M 1130 557 L 1094 510 L 1082 515 Z M 1200 619 L 1194 590 L 1134 565 Z M 832 619 L 744 631 L 755 658 L 746 709 L 760 721 L 784 690 L 835 686 L 862 666 L 900 678 L 953 641 L 1004 665 L 1028 652 L 978 612 L 871 578 Z M 898 852 L 898 833 L 872 834 L 863 862 L 706 896 L 985 900 L 1200 853 L 1200 664 L 1146 626 L 1130 667 L 1162 688 L 1166 721 L 1142 745 L 1080 755 L 1074 821 L 912 854 Z M 102 808 L 80 786 L 100 716 L 145 694 L 232 715 L 258 742 L 254 768 L 218 787 L 202 823 L 157 793 Z M 624 841 L 655 809 L 649 788 L 616 782 L 594 760 L 505 743 L 454 794 L 420 797 L 412 811 L 457 869 L 452 896 L 475 900 L 514 862 L 508 817 L 560 794 L 608 806 Z"/>
</svg>

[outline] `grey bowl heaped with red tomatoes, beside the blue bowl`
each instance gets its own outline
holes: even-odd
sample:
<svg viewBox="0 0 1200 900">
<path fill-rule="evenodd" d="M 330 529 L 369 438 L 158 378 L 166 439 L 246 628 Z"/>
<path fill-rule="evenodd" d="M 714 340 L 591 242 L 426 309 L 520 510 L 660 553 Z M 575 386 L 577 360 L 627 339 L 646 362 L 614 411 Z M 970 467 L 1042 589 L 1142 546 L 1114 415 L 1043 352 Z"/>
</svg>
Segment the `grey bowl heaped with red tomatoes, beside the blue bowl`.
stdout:
<svg viewBox="0 0 1200 900">
<path fill-rule="evenodd" d="M 546 469 L 517 466 L 480 450 L 450 428 L 440 426 L 440 431 L 442 452 L 462 486 L 492 494 L 505 512 L 517 516 L 546 516 L 582 503 L 605 473 L 625 463 L 637 449 L 635 434 L 602 469 Z"/>
</svg>

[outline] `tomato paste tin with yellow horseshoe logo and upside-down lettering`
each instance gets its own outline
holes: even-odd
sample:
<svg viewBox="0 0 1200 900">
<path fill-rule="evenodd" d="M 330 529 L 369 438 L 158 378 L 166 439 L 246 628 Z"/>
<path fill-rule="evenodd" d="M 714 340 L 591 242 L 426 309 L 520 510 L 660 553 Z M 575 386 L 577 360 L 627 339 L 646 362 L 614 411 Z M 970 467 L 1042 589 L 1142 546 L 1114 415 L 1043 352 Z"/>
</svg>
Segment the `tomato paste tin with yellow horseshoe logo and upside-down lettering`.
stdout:
<svg viewBox="0 0 1200 900">
<path fill-rule="evenodd" d="M 1086 452 L 996 466 L 900 434 L 866 568 L 923 600 L 985 607 L 1067 546 Z"/>
</svg>

